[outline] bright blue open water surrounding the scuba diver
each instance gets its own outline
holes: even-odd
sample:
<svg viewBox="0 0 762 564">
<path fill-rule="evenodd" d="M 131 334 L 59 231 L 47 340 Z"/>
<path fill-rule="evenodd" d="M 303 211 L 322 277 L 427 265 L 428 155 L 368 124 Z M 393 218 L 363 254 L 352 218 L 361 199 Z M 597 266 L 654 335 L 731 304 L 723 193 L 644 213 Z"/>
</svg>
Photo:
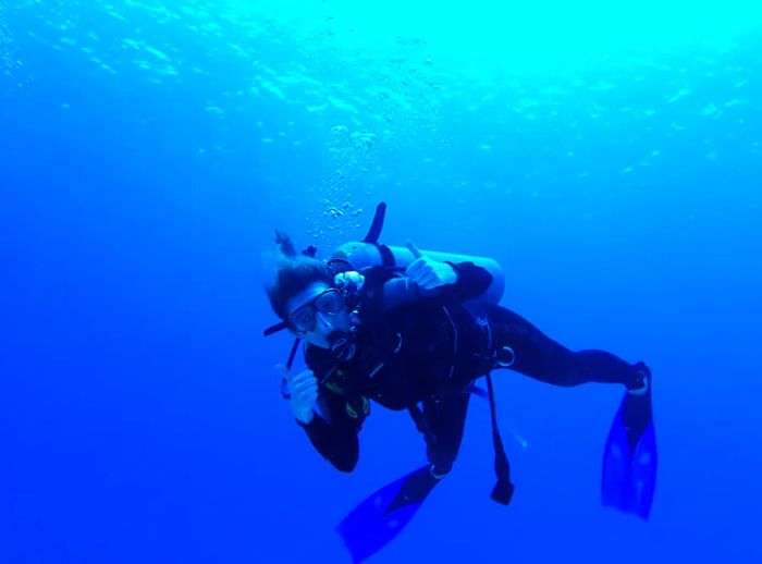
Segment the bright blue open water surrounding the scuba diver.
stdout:
<svg viewBox="0 0 762 564">
<path fill-rule="evenodd" d="M 305 4 L 0 2 L 0 562 L 349 562 L 333 527 L 422 441 L 374 406 L 355 473 L 312 451 L 262 254 L 380 200 L 388 243 L 490 255 L 505 306 L 648 361 L 661 468 L 648 523 L 601 507 L 622 391 L 499 373 L 514 502 L 472 402 L 373 562 L 762 561 L 762 29 L 527 63 Z"/>
</svg>

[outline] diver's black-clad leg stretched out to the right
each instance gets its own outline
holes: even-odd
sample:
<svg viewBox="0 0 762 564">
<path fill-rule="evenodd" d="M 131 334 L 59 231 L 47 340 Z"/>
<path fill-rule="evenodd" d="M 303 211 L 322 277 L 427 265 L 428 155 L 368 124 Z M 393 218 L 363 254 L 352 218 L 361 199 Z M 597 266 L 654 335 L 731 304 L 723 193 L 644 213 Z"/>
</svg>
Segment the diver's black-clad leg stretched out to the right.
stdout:
<svg viewBox="0 0 762 564">
<path fill-rule="evenodd" d="M 504 307 L 493 308 L 490 320 L 495 347 L 502 353 L 499 359 L 509 364 L 506 368 L 556 385 L 605 382 L 622 383 L 628 390 L 646 385 L 650 372 L 642 363 L 630 365 L 605 351 L 569 351 Z"/>
</svg>

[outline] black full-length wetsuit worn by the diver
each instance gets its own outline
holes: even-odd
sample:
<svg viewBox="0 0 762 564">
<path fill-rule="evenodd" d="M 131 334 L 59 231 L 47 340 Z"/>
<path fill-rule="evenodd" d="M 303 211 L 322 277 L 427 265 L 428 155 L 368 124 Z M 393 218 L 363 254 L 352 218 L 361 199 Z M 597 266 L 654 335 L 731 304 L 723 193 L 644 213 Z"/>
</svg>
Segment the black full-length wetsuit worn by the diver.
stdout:
<svg viewBox="0 0 762 564">
<path fill-rule="evenodd" d="M 389 277 L 382 270 L 371 273 L 352 359 L 307 346 L 307 366 L 320 382 L 322 416 L 299 425 L 337 469 L 352 471 L 357 464 L 357 433 L 374 401 L 396 410 L 413 407 L 429 461 L 438 473 L 448 471 L 463 439 L 467 390 L 497 363 L 556 385 L 641 383 L 637 365 L 603 351 L 569 351 L 513 311 L 476 302 L 491 275 L 470 262 L 453 267 L 455 284 L 428 295 L 419 291 L 391 309 L 383 307 Z"/>
</svg>

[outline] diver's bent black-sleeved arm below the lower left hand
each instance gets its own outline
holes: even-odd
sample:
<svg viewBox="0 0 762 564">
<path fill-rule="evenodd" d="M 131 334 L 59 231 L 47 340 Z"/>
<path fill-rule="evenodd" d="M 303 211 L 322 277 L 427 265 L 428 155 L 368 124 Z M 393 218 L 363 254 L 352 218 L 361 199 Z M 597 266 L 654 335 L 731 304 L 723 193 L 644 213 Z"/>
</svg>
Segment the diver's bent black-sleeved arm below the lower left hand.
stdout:
<svg viewBox="0 0 762 564">
<path fill-rule="evenodd" d="M 352 401 L 345 400 L 328 390 L 322 390 L 318 400 L 318 409 L 309 422 L 296 420 L 312 446 L 337 470 L 349 473 L 355 469 L 359 457 L 360 430 L 365 413 L 354 410 Z M 353 417 L 355 416 L 355 417 Z"/>
</svg>

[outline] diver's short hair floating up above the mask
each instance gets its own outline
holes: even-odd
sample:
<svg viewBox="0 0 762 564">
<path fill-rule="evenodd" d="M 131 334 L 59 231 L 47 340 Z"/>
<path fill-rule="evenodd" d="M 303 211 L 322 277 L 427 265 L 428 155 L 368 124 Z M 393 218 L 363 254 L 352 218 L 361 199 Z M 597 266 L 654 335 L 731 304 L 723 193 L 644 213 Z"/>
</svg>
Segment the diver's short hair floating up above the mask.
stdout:
<svg viewBox="0 0 762 564">
<path fill-rule="evenodd" d="M 287 321 L 288 301 L 315 282 L 331 284 L 333 275 L 328 266 L 307 255 L 298 254 L 288 235 L 275 231 L 279 257 L 275 263 L 275 279 L 266 285 L 270 305 L 278 317 Z"/>
</svg>

